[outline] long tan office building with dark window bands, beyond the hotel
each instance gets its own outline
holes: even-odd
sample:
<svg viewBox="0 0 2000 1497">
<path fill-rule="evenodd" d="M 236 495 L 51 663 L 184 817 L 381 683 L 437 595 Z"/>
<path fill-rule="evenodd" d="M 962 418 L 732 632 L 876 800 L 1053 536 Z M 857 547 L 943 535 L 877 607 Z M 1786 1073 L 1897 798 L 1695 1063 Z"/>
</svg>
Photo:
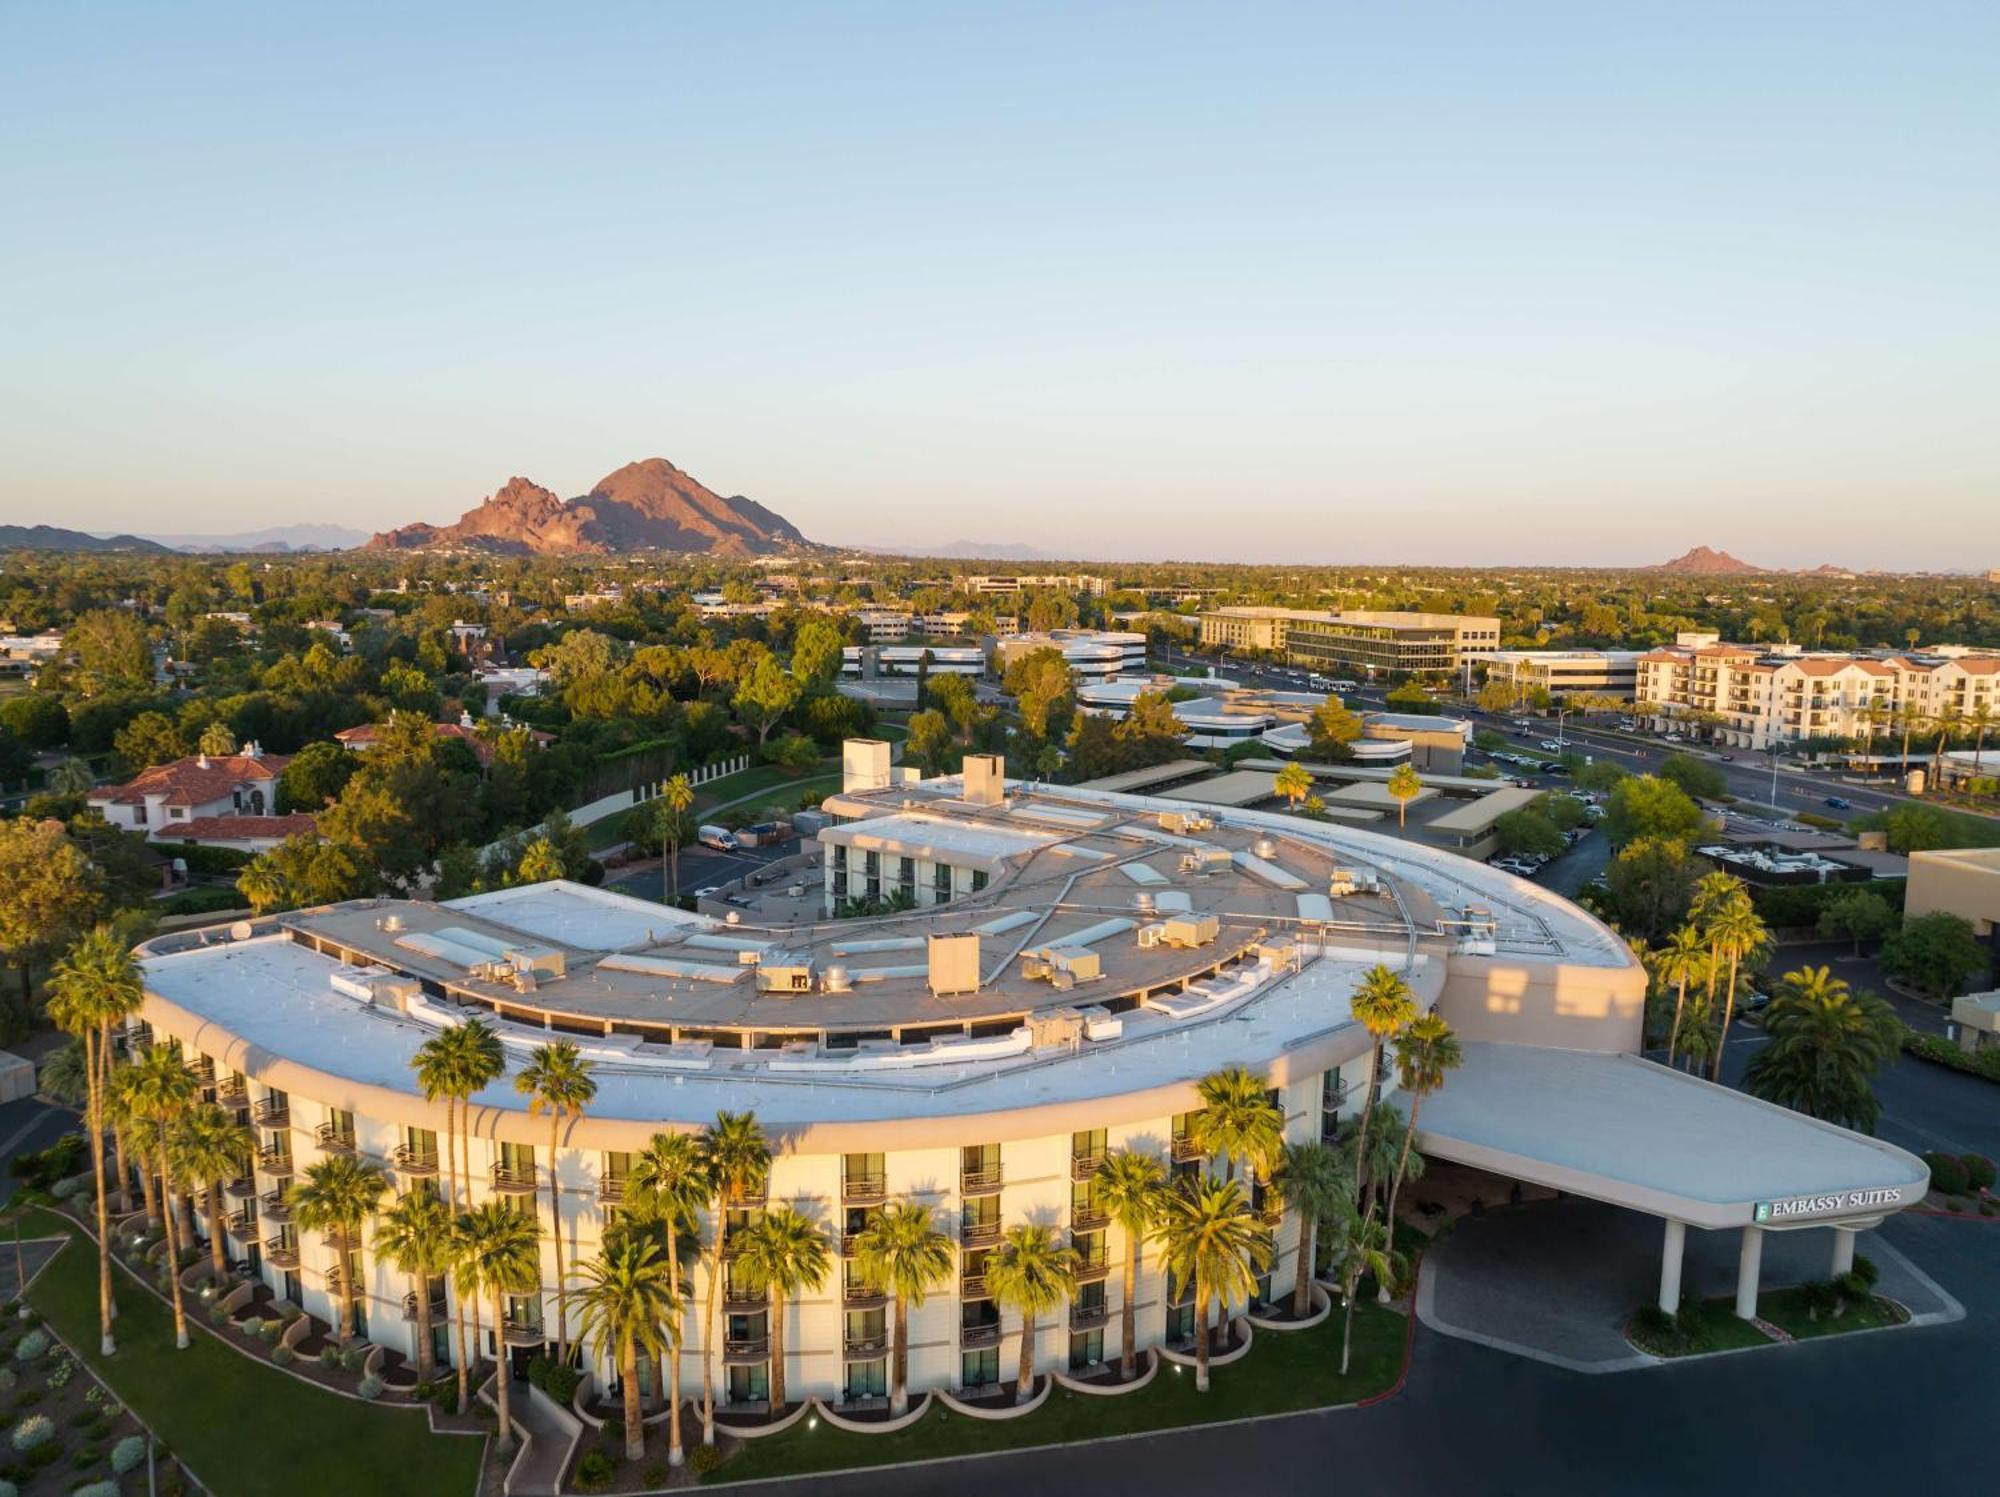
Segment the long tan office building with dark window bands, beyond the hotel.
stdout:
<svg viewBox="0 0 2000 1497">
<path fill-rule="evenodd" d="M 1344 676 L 1448 676 L 1500 648 L 1500 620 L 1454 612 L 1210 608 L 1202 644 L 1266 650 Z"/>
</svg>

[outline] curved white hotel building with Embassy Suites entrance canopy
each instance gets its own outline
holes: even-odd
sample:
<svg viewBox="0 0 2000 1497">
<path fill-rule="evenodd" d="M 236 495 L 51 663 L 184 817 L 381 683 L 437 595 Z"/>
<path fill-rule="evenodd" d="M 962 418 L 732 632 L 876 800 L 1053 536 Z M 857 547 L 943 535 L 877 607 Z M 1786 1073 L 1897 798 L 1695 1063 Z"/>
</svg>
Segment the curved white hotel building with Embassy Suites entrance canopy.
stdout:
<svg viewBox="0 0 2000 1497">
<path fill-rule="evenodd" d="M 554 1159 L 566 1263 L 596 1251 L 654 1133 L 754 1111 L 774 1147 L 766 1201 L 824 1223 L 834 1249 L 828 1283 L 786 1305 L 794 1395 L 884 1391 L 886 1307 L 846 1251 L 890 1199 L 930 1205 L 958 1243 L 958 1273 L 910 1317 L 912 1389 L 1012 1375 L 1020 1325 L 996 1311 L 982 1265 L 1020 1221 L 1060 1227 L 1082 1257 L 1082 1291 L 1042 1319 L 1036 1353 L 1084 1369 L 1116 1357 L 1124 1257 L 1096 1161 L 1132 1147 L 1204 1169 L 1196 1083 L 1230 1063 L 1268 1079 L 1292 1139 L 1322 1137 L 1360 1101 L 1368 1035 L 1348 999 L 1376 963 L 1466 1047 L 1424 1105 L 1420 1147 L 1662 1217 L 1664 1303 L 1678 1301 L 1686 1227 L 1740 1229 L 1754 1295 L 1764 1231 L 1832 1227 L 1838 1263 L 1854 1229 L 1922 1197 L 1924 1169 L 1898 1149 L 1638 1059 L 1644 973 L 1534 885 L 1338 825 L 1030 791 L 996 761 L 930 783 L 890 771 L 886 744 L 850 744 L 848 765 L 816 867 L 734 897 L 728 919 L 548 883 L 144 947 L 142 1029 L 178 1041 L 258 1129 L 254 1169 L 230 1185 L 232 1257 L 332 1319 L 340 1255 L 294 1229 L 282 1189 L 328 1151 L 378 1161 L 396 1189 L 436 1177 L 444 1107 L 422 1099 L 410 1061 L 478 1015 L 508 1075 L 472 1099 L 474 1195 L 544 1221 L 544 1289 L 516 1299 L 500 1333 L 516 1357 L 554 1339 L 558 1313 L 548 1121 L 514 1089 L 554 1035 L 598 1083 Z M 912 913 L 830 919 L 838 901 L 898 891 Z M 1262 1293 L 1276 1297 L 1298 1233 L 1274 1197 L 1260 1207 L 1278 1245 Z M 348 1253 L 366 1337 L 414 1355 L 426 1289 L 374 1253 L 372 1227 Z M 1144 1263 L 1142 1343 L 1188 1337 L 1192 1309 L 1152 1251 Z M 1652 1265 L 1640 1273 L 1650 1293 Z M 768 1307 L 728 1279 L 722 1301 L 724 1395 L 758 1403 Z M 486 1343 L 502 1351 L 490 1325 Z M 436 1349 L 448 1361 L 442 1333 Z M 614 1369 L 594 1371 L 610 1383 Z M 682 1371 L 700 1377 L 698 1333 Z"/>
</svg>

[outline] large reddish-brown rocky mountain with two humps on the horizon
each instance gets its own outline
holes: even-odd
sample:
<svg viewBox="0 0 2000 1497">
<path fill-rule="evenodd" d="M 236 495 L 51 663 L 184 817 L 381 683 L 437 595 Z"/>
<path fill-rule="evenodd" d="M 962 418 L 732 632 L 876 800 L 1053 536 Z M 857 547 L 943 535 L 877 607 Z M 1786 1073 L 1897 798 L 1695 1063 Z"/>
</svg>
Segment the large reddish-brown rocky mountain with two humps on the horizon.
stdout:
<svg viewBox="0 0 2000 1497">
<path fill-rule="evenodd" d="M 528 478 L 508 478 L 454 524 L 404 524 L 368 550 L 466 548 L 534 556 L 606 556 L 678 550 L 762 556 L 812 542 L 782 514 L 736 494 L 722 498 L 666 458 L 628 462 L 578 498 L 556 498 Z"/>
</svg>

